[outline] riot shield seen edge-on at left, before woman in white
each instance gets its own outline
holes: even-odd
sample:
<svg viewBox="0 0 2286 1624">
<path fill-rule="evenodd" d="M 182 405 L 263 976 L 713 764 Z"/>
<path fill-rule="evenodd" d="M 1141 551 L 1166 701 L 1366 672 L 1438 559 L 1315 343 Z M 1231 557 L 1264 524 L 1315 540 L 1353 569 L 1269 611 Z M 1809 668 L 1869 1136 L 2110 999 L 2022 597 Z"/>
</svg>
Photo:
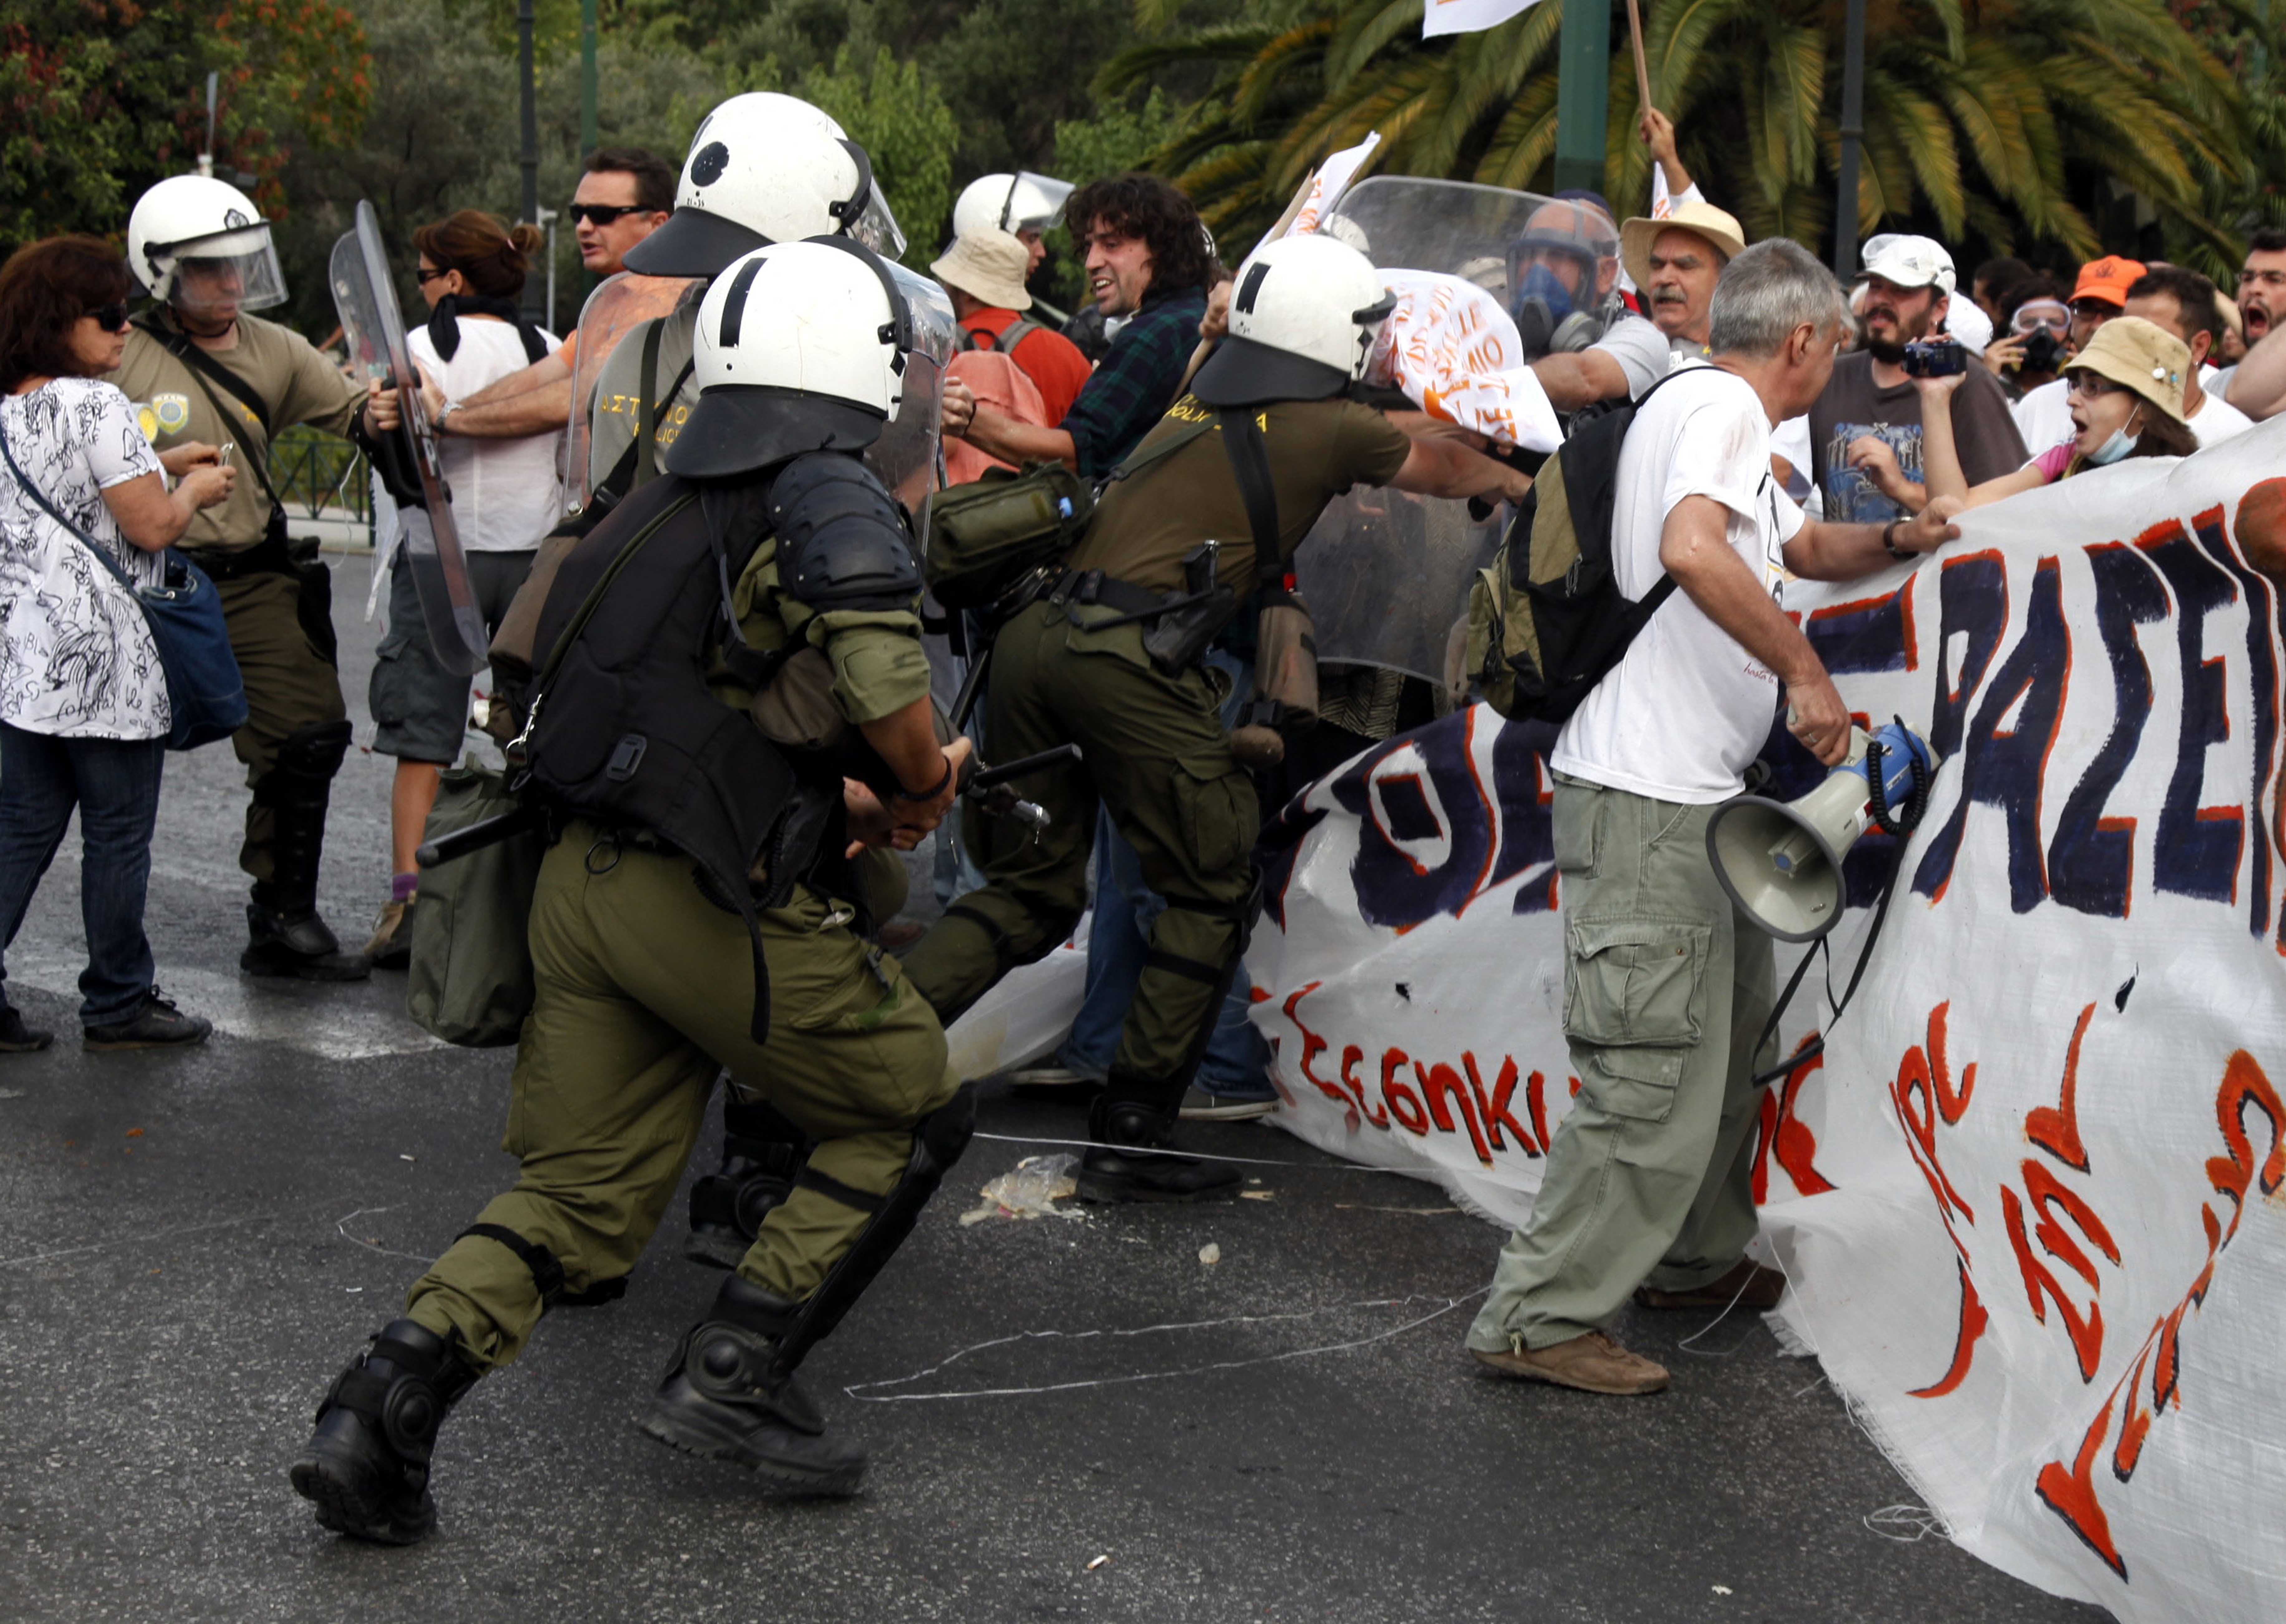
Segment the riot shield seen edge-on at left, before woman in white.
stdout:
<svg viewBox="0 0 2286 1624">
<path fill-rule="evenodd" d="M 334 244 L 327 281 L 334 286 L 341 336 L 350 345 L 350 370 L 398 391 L 402 425 L 389 439 L 395 455 L 382 459 L 395 466 L 379 468 L 379 475 L 398 503 L 405 564 L 421 594 L 430 646 L 448 672 L 475 676 L 489 660 L 491 635 L 469 587 L 469 564 L 459 555 L 453 493 L 437 466 L 437 434 L 421 409 L 421 375 L 405 347 L 405 317 L 398 315 L 398 290 L 389 281 L 389 256 L 382 251 L 373 203 L 359 199 L 357 226 Z"/>
</svg>

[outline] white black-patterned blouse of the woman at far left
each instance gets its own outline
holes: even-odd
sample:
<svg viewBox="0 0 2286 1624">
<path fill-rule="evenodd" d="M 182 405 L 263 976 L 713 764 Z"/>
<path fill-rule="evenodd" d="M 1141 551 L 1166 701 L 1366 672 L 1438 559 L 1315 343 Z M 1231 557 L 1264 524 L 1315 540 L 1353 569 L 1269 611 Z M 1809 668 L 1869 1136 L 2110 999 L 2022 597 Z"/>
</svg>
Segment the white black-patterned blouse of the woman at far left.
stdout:
<svg viewBox="0 0 2286 1624">
<path fill-rule="evenodd" d="M 128 580 L 165 564 L 119 534 L 103 491 L 158 473 L 158 452 L 117 386 L 59 377 L 0 397 L 9 455 L 55 512 L 96 539 Z M 87 544 L 41 512 L 0 464 L 0 722 L 55 738 L 165 738 L 167 669 L 142 605 Z"/>
</svg>

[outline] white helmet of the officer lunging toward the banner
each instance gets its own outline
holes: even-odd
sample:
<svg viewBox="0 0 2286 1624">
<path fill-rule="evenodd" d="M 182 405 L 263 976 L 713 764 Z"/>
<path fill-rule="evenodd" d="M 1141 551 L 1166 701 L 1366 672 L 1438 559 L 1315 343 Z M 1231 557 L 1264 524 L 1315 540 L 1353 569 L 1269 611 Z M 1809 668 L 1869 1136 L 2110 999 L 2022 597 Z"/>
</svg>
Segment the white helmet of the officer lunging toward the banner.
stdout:
<svg viewBox="0 0 2286 1624">
<path fill-rule="evenodd" d="M 1381 272 L 1346 242 L 1314 233 L 1264 242 L 1239 265 L 1230 338 L 1198 368 L 1191 393 L 1209 407 L 1340 395 L 1365 377 L 1394 308 Z"/>
</svg>

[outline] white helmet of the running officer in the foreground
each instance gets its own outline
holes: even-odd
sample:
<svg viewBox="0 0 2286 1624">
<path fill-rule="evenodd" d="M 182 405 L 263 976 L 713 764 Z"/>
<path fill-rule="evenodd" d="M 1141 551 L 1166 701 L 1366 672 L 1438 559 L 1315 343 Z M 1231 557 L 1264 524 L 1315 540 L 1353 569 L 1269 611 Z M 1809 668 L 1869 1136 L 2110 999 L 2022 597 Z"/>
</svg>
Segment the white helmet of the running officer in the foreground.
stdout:
<svg viewBox="0 0 2286 1624">
<path fill-rule="evenodd" d="M 700 302 L 700 404 L 668 448 L 690 480 L 812 450 L 864 450 L 896 420 L 912 311 L 862 242 L 775 242 L 722 267 Z"/>
</svg>

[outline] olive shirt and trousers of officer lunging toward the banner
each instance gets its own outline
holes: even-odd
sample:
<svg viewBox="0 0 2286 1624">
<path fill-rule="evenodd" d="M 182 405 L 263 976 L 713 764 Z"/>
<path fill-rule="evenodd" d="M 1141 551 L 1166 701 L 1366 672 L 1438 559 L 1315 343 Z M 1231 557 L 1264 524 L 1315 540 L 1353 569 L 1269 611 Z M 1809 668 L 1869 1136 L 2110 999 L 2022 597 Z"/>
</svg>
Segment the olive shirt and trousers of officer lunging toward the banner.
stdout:
<svg viewBox="0 0 2286 1624">
<path fill-rule="evenodd" d="M 1287 560 L 1326 503 L 1351 484 L 1388 484 L 1410 443 L 1381 413 L 1344 400 L 1253 407 L 1278 493 Z M 1212 416 L 1182 397 L 1138 448 Z M 1198 1067 L 1248 925 L 1248 854 L 1260 827 L 1255 788 L 1230 754 L 1223 692 L 1191 667 L 1164 674 L 1143 651 L 1143 624 L 1081 598 L 1084 573 L 1175 592 L 1182 557 L 1221 541 L 1221 580 L 1246 596 L 1255 580 L 1253 530 L 1221 427 L 1138 468 L 1104 496 L 1056 594 L 1033 603 L 992 642 L 985 738 L 1001 761 L 1077 742 L 1077 767 L 1024 779 L 1052 818 L 1033 841 L 985 829 L 988 884 L 953 902 L 905 955 L 905 973 L 946 1019 L 967 1010 L 1010 966 L 1063 941 L 1086 907 L 1086 866 L 1097 802 L 1143 859 L 1143 879 L 1168 907 L 1152 923 L 1150 957 L 1111 1060 L 1106 1099 L 1170 1115 Z"/>
</svg>

